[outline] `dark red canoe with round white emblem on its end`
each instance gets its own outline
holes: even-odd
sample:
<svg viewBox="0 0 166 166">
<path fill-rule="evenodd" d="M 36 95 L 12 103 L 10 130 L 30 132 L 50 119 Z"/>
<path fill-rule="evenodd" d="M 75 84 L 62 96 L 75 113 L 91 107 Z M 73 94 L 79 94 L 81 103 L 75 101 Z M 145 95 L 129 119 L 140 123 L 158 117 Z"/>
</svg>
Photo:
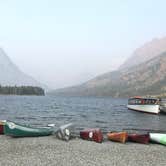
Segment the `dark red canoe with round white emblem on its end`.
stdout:
<svg viewBox="0 0 166 166">
<path fill-rule="evenodd" d="M 85 129 L 80 131 L 80 137 L 85 140 L 95 141 L 98 143 L 102 143 L 103 134 L 100 129 Z"/>
</svg>

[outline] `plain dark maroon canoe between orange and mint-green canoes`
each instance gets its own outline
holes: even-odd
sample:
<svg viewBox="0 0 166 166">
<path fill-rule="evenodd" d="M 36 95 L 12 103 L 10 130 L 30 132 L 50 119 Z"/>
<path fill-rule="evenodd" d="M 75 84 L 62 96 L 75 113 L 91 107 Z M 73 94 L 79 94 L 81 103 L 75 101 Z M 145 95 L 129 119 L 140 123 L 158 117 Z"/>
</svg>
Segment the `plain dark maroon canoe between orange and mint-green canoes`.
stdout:
<svg viewBox="0 0 166 166">
<path fill-rule="evenodd" d="M 128 134 L 128 141 L 148 144 L 150 140 L 149 134 Z"/>
</svg>

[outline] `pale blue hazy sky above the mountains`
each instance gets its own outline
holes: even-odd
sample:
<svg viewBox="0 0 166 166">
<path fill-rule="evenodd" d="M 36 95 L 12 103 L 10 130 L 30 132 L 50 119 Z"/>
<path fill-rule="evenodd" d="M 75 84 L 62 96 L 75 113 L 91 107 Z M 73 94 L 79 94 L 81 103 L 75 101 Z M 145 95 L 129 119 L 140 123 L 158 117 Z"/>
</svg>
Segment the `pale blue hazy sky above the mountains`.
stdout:
<svg viewBox="0 0 166 166">
<path fill-rule="evenodd" d="M 0 0 L 0 47 L 52 88 L 116 69 L 166 36 L 165 0 Z"/>
</svg>

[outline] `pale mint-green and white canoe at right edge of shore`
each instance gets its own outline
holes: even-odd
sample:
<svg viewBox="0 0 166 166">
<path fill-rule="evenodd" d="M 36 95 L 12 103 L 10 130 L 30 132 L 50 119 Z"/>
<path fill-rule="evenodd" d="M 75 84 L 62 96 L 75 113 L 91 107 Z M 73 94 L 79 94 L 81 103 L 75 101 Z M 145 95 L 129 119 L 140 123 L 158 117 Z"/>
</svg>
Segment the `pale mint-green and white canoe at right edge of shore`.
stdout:
<svg viewBox="0 0 166 166">
<path fill-rule="evenodd" d="M 166 145 L 166 134 L 150 133 L 149 135 L 151 141 Z"/>
</svg>

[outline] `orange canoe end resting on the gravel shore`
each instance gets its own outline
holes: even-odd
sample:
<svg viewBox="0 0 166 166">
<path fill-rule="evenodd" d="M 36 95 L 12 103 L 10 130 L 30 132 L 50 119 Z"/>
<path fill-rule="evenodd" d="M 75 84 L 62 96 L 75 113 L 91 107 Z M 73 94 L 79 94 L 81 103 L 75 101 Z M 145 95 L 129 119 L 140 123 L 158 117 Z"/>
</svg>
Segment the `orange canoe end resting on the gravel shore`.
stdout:
<svg viewBox="0 0 166 166">
<path fill-rule="evenodd" d="M 128 138 L 127 132 L 112 132 L 108 133 L 107 137 L 111 141 L 125 143 Z"/>
</svg>

